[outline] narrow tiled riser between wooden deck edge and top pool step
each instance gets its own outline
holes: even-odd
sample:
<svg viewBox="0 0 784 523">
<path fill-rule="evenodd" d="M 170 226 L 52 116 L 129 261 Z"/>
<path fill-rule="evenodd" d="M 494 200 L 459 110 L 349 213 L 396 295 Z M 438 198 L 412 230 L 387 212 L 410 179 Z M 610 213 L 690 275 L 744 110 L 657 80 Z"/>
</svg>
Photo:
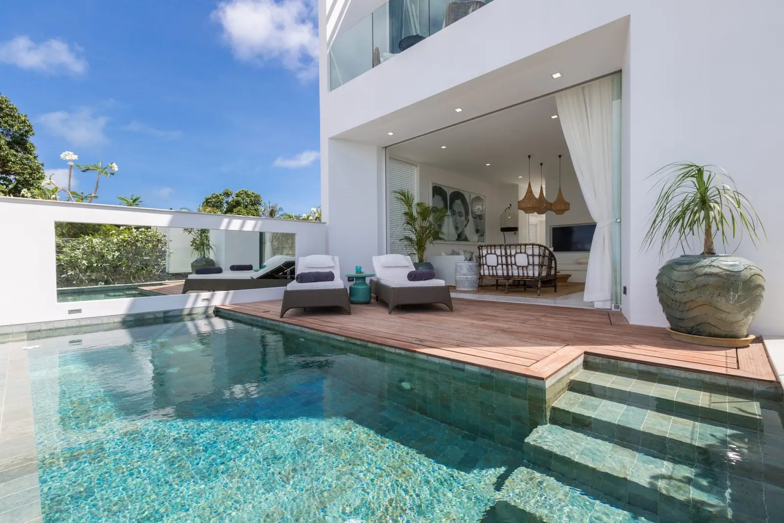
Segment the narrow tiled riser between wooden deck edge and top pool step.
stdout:
<svg viewBox="0 0 784 523">
<path fill-rule="evenodd" d="M 680 380 L 680 382 L 684 384 L 684 387 L 703 387 L 705 385 L 713 384 L 718 387 L 727 387 L 730 394 L 733 392 L 741 394 L 753 392 L 754 396 L 757 398 L 782 401 L 782 386 L 781 383 L 778 382 L 721 376 L 720 374 L 710 374 L 707 372 L 692 372 L 684 369 L 673 369 L 672 367 L 660 367 L 658 365 L 635 363 L 633 361 L 601 358 L 600 356 L 591 356 L 589 354 L 586 354 L 584 357 L 583 367 L 588 370 L 613 372 L 640 377 L 647 376 L 648 378 L 663 376 Z"/>
</svg>

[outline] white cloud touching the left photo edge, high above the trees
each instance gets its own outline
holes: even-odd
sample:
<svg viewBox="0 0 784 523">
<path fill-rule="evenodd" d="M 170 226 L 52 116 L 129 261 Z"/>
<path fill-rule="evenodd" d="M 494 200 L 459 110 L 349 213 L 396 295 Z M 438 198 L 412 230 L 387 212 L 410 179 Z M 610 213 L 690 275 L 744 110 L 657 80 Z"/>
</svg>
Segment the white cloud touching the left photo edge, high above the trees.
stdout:
<svg viewBox="0 0 784 523">
<path fill-rule="evenodd" d="M 81 52 L 82 48 L 78 45 L 71 49 L 60 40 L 36 44 L 29 36 L 17 36 L 0 43 L 0 63 L 45 73 L 82 74 L 87 71 L 87 60 L 77 56 L 76 53 Z"/>
</svg>

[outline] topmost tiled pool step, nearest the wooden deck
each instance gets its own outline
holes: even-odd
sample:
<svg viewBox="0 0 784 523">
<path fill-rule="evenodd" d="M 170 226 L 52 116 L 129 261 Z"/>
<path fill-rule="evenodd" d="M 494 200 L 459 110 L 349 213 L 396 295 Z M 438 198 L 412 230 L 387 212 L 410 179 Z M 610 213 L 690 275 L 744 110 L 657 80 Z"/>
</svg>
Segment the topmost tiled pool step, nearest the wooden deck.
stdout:
<svg viewBox="0 0 784 523">
<path fill-rule="evenodd" d="M 597 398 L 637 405 L 665 414 L 688 416 L 749 430 L 762 428 L 762 410 L 751 394 L 728 392 L 727 387 L 681 383 L 677 378 L 639 374 L 627 376 L 583 369 L 571 380 L 570 390 Z"/>
</svg>

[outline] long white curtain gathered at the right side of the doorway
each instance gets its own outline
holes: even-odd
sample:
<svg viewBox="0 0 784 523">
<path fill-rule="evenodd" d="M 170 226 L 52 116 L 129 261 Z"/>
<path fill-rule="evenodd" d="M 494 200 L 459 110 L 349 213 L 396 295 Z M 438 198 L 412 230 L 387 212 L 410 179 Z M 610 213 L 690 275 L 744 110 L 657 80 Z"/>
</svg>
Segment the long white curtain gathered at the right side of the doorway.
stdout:
<svg viewBox="0 0 784 523">
<path fill-rule="evenodd" d="M 612 306 L 612 77 L 555 95 L 572 164 L 596 222 L 588 257 L 585 301 Z"/>
</svg>

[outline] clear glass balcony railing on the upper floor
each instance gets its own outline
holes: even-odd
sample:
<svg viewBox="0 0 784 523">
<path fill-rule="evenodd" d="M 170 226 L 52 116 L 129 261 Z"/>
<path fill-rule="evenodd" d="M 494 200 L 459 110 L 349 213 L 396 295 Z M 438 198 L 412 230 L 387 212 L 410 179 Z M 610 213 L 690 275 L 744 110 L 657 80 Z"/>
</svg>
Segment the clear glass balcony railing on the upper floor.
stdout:
<svg viewBox="0 0 784 523">
<path fill-rule="evenodd" d="M 329 90 L 473 13 L 492 0 L 389 0 L 329 48 Z"/>
</svg>

